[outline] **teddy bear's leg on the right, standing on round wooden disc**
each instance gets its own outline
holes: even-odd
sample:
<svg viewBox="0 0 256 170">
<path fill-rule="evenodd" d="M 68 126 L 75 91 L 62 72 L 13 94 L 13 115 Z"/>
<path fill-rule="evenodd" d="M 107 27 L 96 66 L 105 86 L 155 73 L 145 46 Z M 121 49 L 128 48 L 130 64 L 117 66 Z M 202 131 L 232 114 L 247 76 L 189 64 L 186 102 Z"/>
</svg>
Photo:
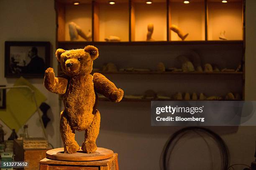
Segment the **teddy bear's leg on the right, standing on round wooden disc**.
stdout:
<svg viewBox="0 0 256 170">
<path fill-rule="evenodd" d="M 96 110 L 93 117 L 92 124 L 85 130 L 84 143 L 82 144 L 82 150 L 86 153 L 93 153 L 97 150 L 96 139 L 100 132 L 100 112 Z"/>
</svg>

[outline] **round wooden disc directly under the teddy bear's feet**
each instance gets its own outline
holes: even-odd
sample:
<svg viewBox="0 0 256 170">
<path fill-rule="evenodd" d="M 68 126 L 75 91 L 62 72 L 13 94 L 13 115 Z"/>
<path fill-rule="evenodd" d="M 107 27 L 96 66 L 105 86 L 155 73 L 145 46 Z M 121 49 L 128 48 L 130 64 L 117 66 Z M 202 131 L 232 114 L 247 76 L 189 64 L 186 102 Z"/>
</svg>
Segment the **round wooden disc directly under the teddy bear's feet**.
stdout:
<svg viewBox="0 0 256 170">
<path fill-rule="evenodd" d="M 46 158 L 51 160 L 64 160 L 64 161 L 94 161 L 105 160 L 113 157 L 113 151 L 105 148 L 97 148 L 94 153 L 84 153 L 84 151 L 78 150 L 76 153 L 64 153 L 64 148 L 56 148 L 48 150 L 46 152 Z"/>
</svg>

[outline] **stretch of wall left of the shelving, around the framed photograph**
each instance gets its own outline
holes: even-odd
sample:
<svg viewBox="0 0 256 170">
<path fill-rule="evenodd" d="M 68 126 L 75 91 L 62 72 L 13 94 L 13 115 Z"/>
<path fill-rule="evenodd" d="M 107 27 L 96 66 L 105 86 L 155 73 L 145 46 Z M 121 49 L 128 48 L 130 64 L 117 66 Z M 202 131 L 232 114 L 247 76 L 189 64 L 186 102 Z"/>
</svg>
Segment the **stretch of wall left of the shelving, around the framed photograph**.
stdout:
<svg viewBox="0 0 256 170">
<path fill-rule="evenodd" d="M 0 0 L 0 84 L 13 85 L 15 78 L 4 77 L 5 41 L 49 41 L 51 42 L 51 65 L 57 70 L 54 56 L 55 50 L 55 10 L 54 0 Z M 52 112 L 49 112 L 51 125 L 47 127 L 49 142 L 55 147 L 59 145 L 59 102 L 58 96 L 48 92 L 43 85 L 43 79 L 28 79 L 34 86 L 43 92 L 48 100 Z M 0 122 L 3 124 L 3 122 Z M 43 133 L 39 118 L 34 114 L 28 120 L 28 133 L 33 137 L 42 137 Z M 10 129 L 4 126 L 7 132 L 5 139 L 10 136 Z M 22 133 L 22 130 L 18 134 Z"/>
</svg>

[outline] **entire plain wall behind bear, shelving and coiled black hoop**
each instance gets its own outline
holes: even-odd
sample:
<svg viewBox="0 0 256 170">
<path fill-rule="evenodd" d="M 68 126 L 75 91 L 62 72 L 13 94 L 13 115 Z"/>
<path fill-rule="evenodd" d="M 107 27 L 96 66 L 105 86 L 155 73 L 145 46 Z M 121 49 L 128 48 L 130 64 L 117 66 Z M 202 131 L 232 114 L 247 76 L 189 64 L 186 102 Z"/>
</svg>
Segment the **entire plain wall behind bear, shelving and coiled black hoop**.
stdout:
<svg viewBox="0 0 256 170">
<path fill-rule="evenodd" d="M 255 27 L 256 27 L 256 1 L 246 1 L 246 100 L 256 100 L 256 60 Z M 11 13 L 10 13 L 11 11 Z M 50 41 L 54 55 L 55 43 L 55 13 L 53 0 L 1 0 L 0 1 L 0 84 L 12 85 L 15 79 L 4 78 L 4 41 L 6 40 L 38 40 Z M 53 57 L 53 66 L 56 70 L 56 60 Z M 57 95 L 47 92 L 41 79 L 31 79 L 33 85 L 38 87 L 48 97 L 51 105 L 52 122 L 50 142 L 54 147 L 60 147 L 58 134 L 59 109 Z M 119 154 L 121 170 L 159 169 L 159 158 L 166 140 L 172 133 L 182 127 L 151 127 L 150 103 L 147 102 L 121 102 L 118 104 L 100 102 L 101 132 L 97 140 L 100 147 L 110 148 Z M 36 122 L 36 123 L 35 123 Z M 35 114 L 28 121 L 29 133 L 33 136 L 41 135 L 38 117 Z M 231 164 L 250 164 L 254 160 L 256 127 L 210 127 L 219 133 L 230 150 Z M 5 127 L 5 130 L 8 130 Z M 50 132 L 51 131 L 51 132 Z M 10 130 L 8 134 L 10 135 Z M 77 133 L 79 144 L 83 140 L 83 132 Z M 195 140 L 193 140 L 195 139 Z M 58 145 L 57 145 L 58 144 Z M 177 148 L 175 164 L 177 169 L 209 169 L 210 156 L 207 148 L 200 138 L 188 136 Z M 181 147 L 182 146 L 182 147 Z M 213 144 L 211 144 L 213 146 Z M 180 150 L 179 150 L 180 149 Z M 180 151 L 180 152 L 178 152 Z M 212 151 L 213 152 L 213 151 Z M 218 161 L 218 153 L 212 153 Z M 193 164 L 194 161 L 194 164 Z M 173 162 L 172 162 L 173 163 Z M 195 166 L 200 163 L 200 167 Z M 202 168 L 204 167 L 204 168 Z M 216 167 L 218 167 L 216 165 Z M 239 167 L 238 167 L 239 168 Z M 241 167 L 240 167 L 241 169 Z"/>
</svg>

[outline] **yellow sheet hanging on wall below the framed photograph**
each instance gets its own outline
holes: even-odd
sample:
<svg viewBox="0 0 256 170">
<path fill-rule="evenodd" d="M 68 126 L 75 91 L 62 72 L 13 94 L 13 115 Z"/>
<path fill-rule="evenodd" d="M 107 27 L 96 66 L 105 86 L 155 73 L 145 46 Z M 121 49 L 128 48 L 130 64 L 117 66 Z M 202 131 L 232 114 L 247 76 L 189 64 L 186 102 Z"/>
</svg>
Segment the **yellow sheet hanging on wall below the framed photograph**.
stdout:
<svg viewBox="0 0 256 170">
<path fill-rule="evenodd" d="M 34 90 L 38 107 L 47 99 L 44 94 L 23 77 L 16 80 L 14 86 L 17 85 L 27 85 Z M 33 94 L 28 88 L 13 88 L 6 94 L 6 109 L 0 110 L 0 119 L 10 129 L 15 129 L 18 132 L 36 110 Z"/>
</svg>

